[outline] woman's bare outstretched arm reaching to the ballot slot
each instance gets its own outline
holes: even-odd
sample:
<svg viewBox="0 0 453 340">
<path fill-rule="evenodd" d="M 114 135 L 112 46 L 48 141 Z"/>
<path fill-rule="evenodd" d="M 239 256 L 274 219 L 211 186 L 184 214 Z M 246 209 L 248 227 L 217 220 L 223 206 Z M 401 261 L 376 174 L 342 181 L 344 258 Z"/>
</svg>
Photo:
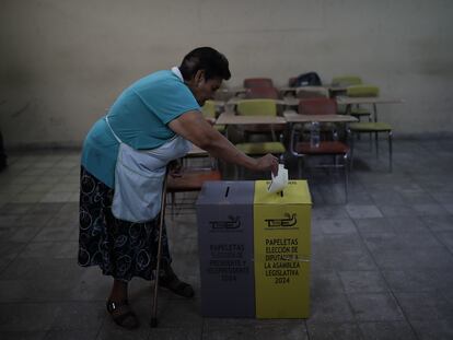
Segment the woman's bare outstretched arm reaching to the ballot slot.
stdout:
<svg viewBox="0 0 453 340">
<path fill-rule="evenodd" d="M 271 154 L 266 154 L 259 159 L 247 156 L 219 131 L 213 129 L 199 112 L 187 112 L 172 120 L 169 127 L 195 145 L 209 152 L 216 159 L 221 159 L 224 162 L 237 164 L 253 171 L 270 169 L 274 175 L 277 175 L 278 159 L 276 156 Z"/>
</svg>

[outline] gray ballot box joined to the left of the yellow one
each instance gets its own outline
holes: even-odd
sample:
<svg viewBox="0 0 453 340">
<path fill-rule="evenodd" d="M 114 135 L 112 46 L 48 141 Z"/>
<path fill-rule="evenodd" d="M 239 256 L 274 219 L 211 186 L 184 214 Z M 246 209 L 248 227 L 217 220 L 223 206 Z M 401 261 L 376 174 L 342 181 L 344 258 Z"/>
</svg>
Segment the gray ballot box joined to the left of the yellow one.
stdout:
<svg viewBox="0 0 453 340">
<path fill-rule="evenodd" d="M 197 200 L 201 313 L 254 317 L 254 181 L 207 181 Z"/>
</svg>

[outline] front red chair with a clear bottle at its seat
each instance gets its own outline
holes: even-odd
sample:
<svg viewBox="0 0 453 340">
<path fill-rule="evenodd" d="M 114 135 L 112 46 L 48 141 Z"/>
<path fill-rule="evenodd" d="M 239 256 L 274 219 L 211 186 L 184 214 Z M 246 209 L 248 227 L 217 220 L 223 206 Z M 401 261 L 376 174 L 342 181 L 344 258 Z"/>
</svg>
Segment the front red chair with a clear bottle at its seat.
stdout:
<svg viewBox="0 0 453 340">
<path fill-rule="evenodd" d="M 300 115 L 336 115 L 337 102 L 333 98 L 315 97 L 301 99 L 298 107 Z M 302 132 L 302 133 L 301 133 Z M 333 156 L 334 163 L 321 164 L 316 167 L 335 167 L 344 169 L 345 181 L 345 199 L 348 201 L 348 168 L 349 168 L 349 152 L 347 144 L 340 142 L 336 138 L 337 133 L 332 130 L 330 133 L 323 133 L 318 146 L 311 145 L 310 141 L 304 139 L 303 127 L 294 125 L 290 132 L 290 152 L 292 155 L 304 160 L 313 156 Z M 342 160 L 342 162 L 339 162 Z M 301 166 L 299 164 L 299 176 L 301 176 Z"/>
</svg>

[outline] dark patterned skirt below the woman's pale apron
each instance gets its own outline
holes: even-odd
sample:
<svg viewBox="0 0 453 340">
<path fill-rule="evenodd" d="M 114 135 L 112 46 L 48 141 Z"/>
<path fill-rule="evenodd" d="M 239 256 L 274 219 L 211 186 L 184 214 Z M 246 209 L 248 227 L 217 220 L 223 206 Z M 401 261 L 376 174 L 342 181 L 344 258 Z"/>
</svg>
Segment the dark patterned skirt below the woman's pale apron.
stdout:
<svg viewBox="0 0 453 340">
<path fill-rule="evenodd" d="M 79 265 L 98 266 L 116 280 L 133 277 L 154 279 L 159 241 L 159 215 L 146 223 L 132 223 L 112 214 L 114 190 L 80 172 Z M 165 225 L 162 234 L 162 265 L 170 265 Z"/>
</svg>

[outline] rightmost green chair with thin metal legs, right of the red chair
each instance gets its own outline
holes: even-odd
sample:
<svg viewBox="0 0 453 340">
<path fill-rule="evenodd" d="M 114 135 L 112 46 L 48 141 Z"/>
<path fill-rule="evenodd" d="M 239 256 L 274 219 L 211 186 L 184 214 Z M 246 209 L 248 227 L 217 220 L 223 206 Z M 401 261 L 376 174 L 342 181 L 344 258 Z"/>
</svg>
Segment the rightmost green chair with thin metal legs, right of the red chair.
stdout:
<svg viewBox="0 0 453 340">
<path fill-rule="evenodd" d="M 379 96 L 379 87 L 372 86 L 372 85 L 356 85 L 350 86 L 347 89 L 347 95 L 350 97 L 376 97 Z M 392 139 L 393 139 L 393 132 L 392 132 L 392 126 L 387 122 L 378 121 L 378 107 L 376 104 L 373 104 L 373 120 L 371 121 L 359 121 L 359 122 L 352 122 L 349 128 L 351 132 L 351 167 L 353 164 L 353 137 L 360 136 L 361 133 L 374 133 L 374 140 L 375 140 L 375 149 L 376 149 L 376 156 L 379 156 L 379 133 L 386 133 L 387 140 L 388 140 L 388 168 L 390 172 L 392 172 L 393 166 L 393 149 L 392 149 Z M 348 113 L 349 108 L 347 109 Z M 370 138 L 370 142 L 371 142 Z"/>
</svg>

